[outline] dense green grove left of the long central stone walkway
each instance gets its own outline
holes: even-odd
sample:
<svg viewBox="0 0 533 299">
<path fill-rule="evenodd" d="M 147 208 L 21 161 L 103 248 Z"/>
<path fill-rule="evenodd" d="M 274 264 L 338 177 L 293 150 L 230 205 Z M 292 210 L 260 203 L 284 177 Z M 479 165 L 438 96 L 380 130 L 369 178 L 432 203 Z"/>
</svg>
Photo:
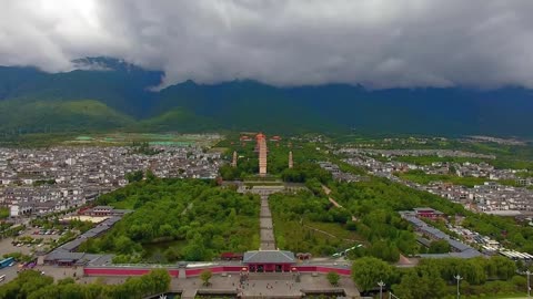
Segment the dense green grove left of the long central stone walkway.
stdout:
<svg viewBox="0 0 533 299">
<path fill-rule="evenodd" d="M 80 249 L 115 252 L 120 255 L 117 261 L 134 260 L 140 256 L 155 262 L 178 258 L 210 260 L 223 251 L 257 248 L 259 196 L 238 194 L 211 183 L 147 179 L 102 195 L 98 204 L 133 208 L 134 212 L 103 236 L 87 240 Z M 168 250 L 169 247 L 172 250 Z"/>
</svg>

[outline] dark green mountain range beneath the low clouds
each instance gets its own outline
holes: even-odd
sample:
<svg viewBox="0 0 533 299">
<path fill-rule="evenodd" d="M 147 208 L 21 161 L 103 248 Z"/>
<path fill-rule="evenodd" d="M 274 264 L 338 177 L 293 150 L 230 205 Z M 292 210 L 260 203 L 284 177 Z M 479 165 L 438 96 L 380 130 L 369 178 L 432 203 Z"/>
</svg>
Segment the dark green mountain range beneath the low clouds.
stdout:
<svg viewBox="0 0 533 299">
<path fill-rule="evenodd" d="M 114 59 L 95 70 L 0 66 L 0 133 L 105 130 L 485 134 L 532 137 L 533 91 L 519 87 L 276 87 L 254 81 L 151 91 L 163 75 Z"/>
</svg>

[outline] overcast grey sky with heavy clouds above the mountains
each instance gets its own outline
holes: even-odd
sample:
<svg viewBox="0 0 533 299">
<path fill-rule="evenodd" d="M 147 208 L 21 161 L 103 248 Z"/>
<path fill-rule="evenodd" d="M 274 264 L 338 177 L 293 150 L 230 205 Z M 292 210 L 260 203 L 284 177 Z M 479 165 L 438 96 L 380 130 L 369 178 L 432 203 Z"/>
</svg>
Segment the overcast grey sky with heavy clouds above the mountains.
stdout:
<svg viewBox="0 0 533 299">
<path fill-rule="evenodd" d="M 0 65 L 187 80 L 533 89 L 532 0 L 0 0 Z"/>
</svg>

